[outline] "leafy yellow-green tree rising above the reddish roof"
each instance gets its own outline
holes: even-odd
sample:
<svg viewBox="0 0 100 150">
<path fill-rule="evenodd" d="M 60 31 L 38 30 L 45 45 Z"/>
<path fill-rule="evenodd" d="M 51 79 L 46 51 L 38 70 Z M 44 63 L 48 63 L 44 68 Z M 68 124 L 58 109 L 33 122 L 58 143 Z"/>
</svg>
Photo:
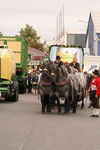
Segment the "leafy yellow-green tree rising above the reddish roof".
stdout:
<svg viewBox="0 0 100 150">
<path fill-rule="evenodd" d="M 40 42 L 40 36 L 37 35 L 35 29 L 32 26 L 26 24 L 25 28 L 21 28 L 19 31 L 20 36 L 27 39 L 30 47 L 34 47 L 43 51 L 44 44 Z"/>
</svg>

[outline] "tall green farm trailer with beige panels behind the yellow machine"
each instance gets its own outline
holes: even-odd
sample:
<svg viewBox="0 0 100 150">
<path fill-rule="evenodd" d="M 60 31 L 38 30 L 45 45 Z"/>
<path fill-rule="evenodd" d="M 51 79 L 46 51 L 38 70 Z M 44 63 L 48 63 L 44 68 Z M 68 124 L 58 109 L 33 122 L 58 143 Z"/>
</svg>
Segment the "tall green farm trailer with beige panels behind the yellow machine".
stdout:
<svg viewBox="0 0 100 150">
<path fill-rule="evenodd" d="M 19 36 L 1 36 L 0 45 L 6 45 L 12 51 L 15 59 L 15 75 L 12 77 L 18 83 L 19 93 L 27 89 L 28 42 Z"/>
</svg>

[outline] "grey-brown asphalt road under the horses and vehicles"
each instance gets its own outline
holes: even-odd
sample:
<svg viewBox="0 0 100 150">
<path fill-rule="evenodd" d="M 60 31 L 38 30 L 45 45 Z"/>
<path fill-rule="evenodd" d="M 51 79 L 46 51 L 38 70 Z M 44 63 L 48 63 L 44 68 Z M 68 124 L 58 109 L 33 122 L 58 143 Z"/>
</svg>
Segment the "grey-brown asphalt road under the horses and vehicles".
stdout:
<svg viewBox="0 0 100 150">
<path fill-rule="evenodd" d="M 0 150 L 100 150 L 100 118 L 78 106 L 76 114 L 41 114 L 33 94 L 0 101 Z"/>
</svg>

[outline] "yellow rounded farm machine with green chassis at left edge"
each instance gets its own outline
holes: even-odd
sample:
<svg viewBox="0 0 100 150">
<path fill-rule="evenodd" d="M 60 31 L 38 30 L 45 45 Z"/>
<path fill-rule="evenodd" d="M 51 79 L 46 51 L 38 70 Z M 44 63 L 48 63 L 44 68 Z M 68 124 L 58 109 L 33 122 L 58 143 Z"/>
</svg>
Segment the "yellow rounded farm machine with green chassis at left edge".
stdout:
<svg viewBox="0 0 100 150">
<path fill-rule="evenodd" d="M 19 85 L 15 78 L 16 65 L 12 50 L 6 45 L 0 45 L 0 98 L 17 101 Z"/>
</svg>

